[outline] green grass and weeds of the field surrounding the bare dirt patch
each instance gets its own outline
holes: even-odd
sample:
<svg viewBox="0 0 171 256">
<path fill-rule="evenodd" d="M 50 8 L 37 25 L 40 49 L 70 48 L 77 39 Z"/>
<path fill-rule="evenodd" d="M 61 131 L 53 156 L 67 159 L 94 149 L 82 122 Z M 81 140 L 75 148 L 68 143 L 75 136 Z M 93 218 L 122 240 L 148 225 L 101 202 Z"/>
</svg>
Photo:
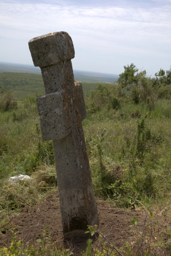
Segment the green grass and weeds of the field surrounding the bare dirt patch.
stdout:
<svg viewBox="0 0 171 256">
<path fill-rule="evenodd" d="M 38 75 L 0 74 L 1 78 L 6 77 L 6 85 L 8 80 L 10 86 L 15 85 L 21 99 L 23 92 L 34 94 L 36 86 L 41 87 Z M 30 91 L 21 90 L 25 81 L 29 81 Z M 94 85 L 83 82 L 88 116 L 82 121 L 94 194 L 119 211 L 131 212 L 134 207 L 136 213 L 138 209 L 130 225 L 136 227 L 139 213 L 144 211 L 151 220 L 154 216 L 160 217 L 163 225 L 160 229 L 157 221 L 147 221 L 145 217 L 142 229 L 137 228 L 134 234 L 136 243 L 125 243 L 119 248 L 120 255 L 171 255 L 171 85 L 164 84 L 161 88 L 159 84 L 160 97 L 158 87 L 152 86 L 149 79 L 146 87 L 144 84 L 133 87 L 129 94 L 124 94 L 117 84 L 100 84 L 93 91 Z M 141 90 L 135 94 L 135 89 Z M 148 93 L 145 100 L 143 93 Z M 133 98 L 136 95 L 138 104 Z M 56 191 L 53 143 L 41 138 L 36 97 L 29 96 L 18 103 L 10 98 L 11 94 L 3 97 L 2 103 L 6 99 L 9 107 L 3 108 L 2 104 L 0 112 L 0 235 L 11 229 L 12 215 L 18 215 L 23 207 L 32 207 Z M 38 177 L 38 182 L 9 183 L 8 177 L 17 174 Z M 47 241 L 50 241 L 49 234 Z M 53 249 L 43 245 L 33 249 L 29 245 L 21 248 L 19 243 L 14 234 L 11 247 L 0 248 L 0 256 L 12 255 L 12 249 L 16 250 L 15 256 L 28 255 L 28 252 L 34 252 L 30 255 L 70 255 L 62 248 L 54 254 Z M 43 248 L 46 248 L 44 254 L 33 251 Z M 111 251 L 109 243 L 94 251 L 91 248 L 90 243 L 89 253 L 84 251 L 81 255 L 119 255 Z"/>
</svg>

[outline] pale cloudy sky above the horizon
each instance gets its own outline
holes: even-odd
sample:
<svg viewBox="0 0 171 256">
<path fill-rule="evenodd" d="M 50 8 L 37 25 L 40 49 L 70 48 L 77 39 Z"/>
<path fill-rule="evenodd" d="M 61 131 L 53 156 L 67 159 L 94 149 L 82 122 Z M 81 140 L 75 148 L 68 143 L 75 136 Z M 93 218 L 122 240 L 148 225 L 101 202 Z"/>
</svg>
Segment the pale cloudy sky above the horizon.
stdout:
<svg viewBox="0 0 171 256">
<path fill-rule="evenodd" d="M 28 41 L 57 31 L 73 40 L 73 69 L 171 66 L 171 0 L 0 0 L 0 61 L 33 65 Z"/>
</svg>

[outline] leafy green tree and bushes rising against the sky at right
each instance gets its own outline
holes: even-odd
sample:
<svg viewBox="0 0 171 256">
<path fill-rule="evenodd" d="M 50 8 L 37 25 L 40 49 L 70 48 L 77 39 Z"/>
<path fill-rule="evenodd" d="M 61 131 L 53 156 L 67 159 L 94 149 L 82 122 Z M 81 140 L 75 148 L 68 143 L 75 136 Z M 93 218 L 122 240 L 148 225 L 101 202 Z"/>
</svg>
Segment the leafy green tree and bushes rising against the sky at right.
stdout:
<svg viewBox="0 0 171 256">
<path fill-rule="evenodd" d="M 155 78 L 146 75 L 146 71 L 138 73 L 136 66 L 124 66 L 124 72 L 118 78 L 118 92 L 126 91 L 133 103 L 145 102 L 149 110 L 154 110 L 158 98 L 169 99 L 171 96 L 171 70 L 160 69 Z M 122 95 L 124 96 L 124 95 Z"/>
</svg>

